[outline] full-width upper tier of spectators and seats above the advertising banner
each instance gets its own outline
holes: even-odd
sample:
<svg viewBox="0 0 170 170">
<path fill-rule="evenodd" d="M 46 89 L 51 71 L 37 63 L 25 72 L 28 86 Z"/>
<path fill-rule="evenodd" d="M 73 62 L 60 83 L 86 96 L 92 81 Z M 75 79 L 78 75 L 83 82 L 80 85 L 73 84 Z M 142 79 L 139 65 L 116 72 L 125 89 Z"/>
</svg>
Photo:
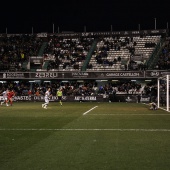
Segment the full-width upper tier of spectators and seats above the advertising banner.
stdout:
<svg viewBox="0 0 170 170">
<path fill-rule="evenodd" d="M 93 47 L 94 41 L 97 41 Z M 147 59 L 161 36 L 64 37 L 11 35 L 0 37 L 0 71 L 31 71 L 31 56 L 42 56 L 40 69 L 47 71 L 81 71 L 87 55 L 86 71 L 145 70 Z M 45 45 L 44 45 L 45 44 Z M 169 41 L 155 68 L 169 69 Z M 47 62 L 47 66 L 43 67 Z M 24 68 L 27 63 L 27 68 Z"/>
</svg>

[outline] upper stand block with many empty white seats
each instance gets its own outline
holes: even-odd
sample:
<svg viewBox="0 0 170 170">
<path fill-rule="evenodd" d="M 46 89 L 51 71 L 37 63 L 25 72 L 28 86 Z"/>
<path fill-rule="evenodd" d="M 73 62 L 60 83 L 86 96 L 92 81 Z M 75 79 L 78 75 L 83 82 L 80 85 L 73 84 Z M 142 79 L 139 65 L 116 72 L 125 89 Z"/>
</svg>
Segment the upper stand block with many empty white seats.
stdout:
<svg viewBox="0 0 170 170">
<path fill-rule="evenodd" d="M 117 71 L 145 69 L 161 36 L 104 37 L 97 43 L 87 70 Z"/>
</svg>

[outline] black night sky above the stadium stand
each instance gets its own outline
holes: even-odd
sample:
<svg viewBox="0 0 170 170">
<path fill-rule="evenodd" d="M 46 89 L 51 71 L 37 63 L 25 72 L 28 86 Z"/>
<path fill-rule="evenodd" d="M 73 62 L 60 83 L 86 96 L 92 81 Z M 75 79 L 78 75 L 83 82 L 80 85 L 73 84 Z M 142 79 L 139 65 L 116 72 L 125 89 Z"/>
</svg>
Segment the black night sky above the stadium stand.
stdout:
<svg viewBox="0 0 170 170">
<path fill-rule="evenodd" d="M 60 0 L 3 2 L 0 33 L 165 29 L 167 0 Z M 34 4 L 36 3 L 36 4 Z"/>
</svg>

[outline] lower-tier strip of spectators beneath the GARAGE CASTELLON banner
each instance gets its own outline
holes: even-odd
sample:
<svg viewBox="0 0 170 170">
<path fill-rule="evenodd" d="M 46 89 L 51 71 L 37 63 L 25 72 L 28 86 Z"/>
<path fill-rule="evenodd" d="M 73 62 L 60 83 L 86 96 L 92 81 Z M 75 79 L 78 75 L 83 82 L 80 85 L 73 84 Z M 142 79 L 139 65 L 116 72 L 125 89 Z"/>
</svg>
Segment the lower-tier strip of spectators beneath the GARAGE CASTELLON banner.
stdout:
<svg viewBox="0 0 170 170">
<path fill-rule="evenodd" d="M 109 95 L 109 94 L 132 94 L 132 95 L 151 95 L 155 96 L 157 93 L 156 82 L 150 82 L 148 84 L 142 84 L 130 80 L 122 80 L 118 82 L 107 82 L 104 84 L 97 83 L 95 80 L 78 82 L 29 82 L 29 81 L 8 81 L 6 83 L 0 83 L 0 93 L 5 89 L 13 89 L 16 95 L 44 95 L 46 89 L 52 89 L 52 94 L 55 96 L 59 88 L 62 89 L 64 96 L 92 96 L 92 95 Z"/>
</svg>

